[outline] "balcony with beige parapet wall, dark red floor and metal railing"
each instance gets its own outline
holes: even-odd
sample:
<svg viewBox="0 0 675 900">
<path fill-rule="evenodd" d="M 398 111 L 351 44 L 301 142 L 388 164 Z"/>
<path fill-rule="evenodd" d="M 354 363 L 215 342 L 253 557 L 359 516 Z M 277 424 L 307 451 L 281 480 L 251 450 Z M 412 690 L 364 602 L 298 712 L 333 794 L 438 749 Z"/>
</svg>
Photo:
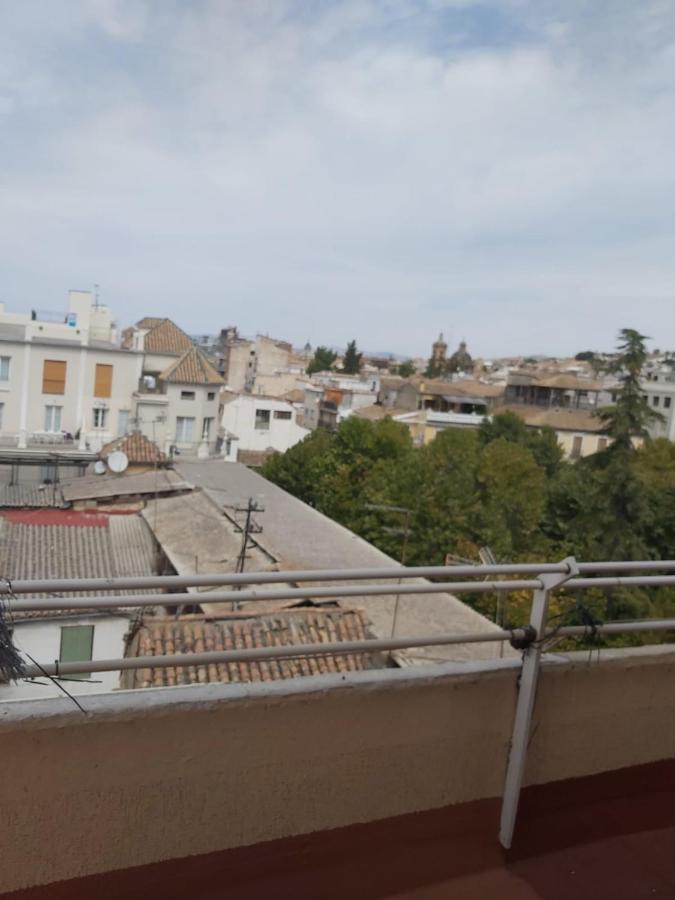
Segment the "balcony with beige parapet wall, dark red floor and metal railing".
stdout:
<svg viewBox="0 0 675 900">
<path fill-rule="evenodd" d="M 506 584 L 533 592 L 534 633 L 495 627 L 349 647 L 382 653 L 515 640 L 522 660 L 429 660 L 275 682 L 121 690 L 87 696 L 85 715 L 65 697 L 0 704 L 7 820 L 0 890 L 18 891 L 17 900 L 207 898 L 223 896 L 223 885 L 238 900 L 672 896 L 675 647 L 589 657 L 588 649 L 552 652 L 546 643 L 672 631 L 672 620 L 546 624 L 552 591 L 675 583 L 664 572 L 675 572 L 675 563 L 118 580 L 119 591 L 210 586 L 216 604 L 230 603 L 233 587 L 241 588 L 239 601 L 268 601 L 272 592 L 296 600 L 356 591 L 377 597 L 392 589 L 383 582 L 403 577 L 404 603 L 421 589 L 405 582 L 422 576 L 445 579 L 429 583 L 429 594 Z M 268 587 L 287 580 L 301 586 Z M 75 586 L 89 607 L 156 602 L 145 594 L 92 598 L 101 588 L 93 581 L 50 585 L 56 595 Z M 12 587 L 14 609 L 85 602 L 22 599 L 44 592 L 43 583 Z M 198 674 L 202 663 L 346 649 L 245 647 L 69 663 L 60 671 L 43 660 L 29 674 L 67 677 L 123 665 L 185 665 Z"/>
</svg>

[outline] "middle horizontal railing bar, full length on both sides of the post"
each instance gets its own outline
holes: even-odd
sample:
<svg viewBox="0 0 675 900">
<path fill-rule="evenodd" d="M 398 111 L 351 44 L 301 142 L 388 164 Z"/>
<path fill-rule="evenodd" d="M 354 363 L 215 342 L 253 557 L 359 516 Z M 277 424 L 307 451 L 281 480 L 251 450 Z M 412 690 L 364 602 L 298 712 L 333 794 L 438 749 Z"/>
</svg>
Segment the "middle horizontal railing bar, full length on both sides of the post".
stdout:
<svg viewBox="0 0 675 900">
<path fill-rule="evenodd" d="M 612 587 L 659 587 L 675 585 L 675 575 L 635 575 L 613 578 L 572 578 L 562 586 L 565 590 Z M 131 594 L 116 597 L 48 597 L 35 600 L 18 600 L 11 604 L 14 613 L 49 612 L 53 610 L 147 608 L 155 606 L 182 606 L 186 604 L 256 603 L 262 601 L 323 600 L 348 597 L 377 597 L 393 595 L 424 595 L 477 593 L 491 591 L 538 590 L 538 579 L 509 581 L 456 581 L 429 582 L 423 584 L 360 584 L 331 585 L 330 587 L 283 588 L 278 590 L 204 591 L 176 594 Z"/>
</svg>

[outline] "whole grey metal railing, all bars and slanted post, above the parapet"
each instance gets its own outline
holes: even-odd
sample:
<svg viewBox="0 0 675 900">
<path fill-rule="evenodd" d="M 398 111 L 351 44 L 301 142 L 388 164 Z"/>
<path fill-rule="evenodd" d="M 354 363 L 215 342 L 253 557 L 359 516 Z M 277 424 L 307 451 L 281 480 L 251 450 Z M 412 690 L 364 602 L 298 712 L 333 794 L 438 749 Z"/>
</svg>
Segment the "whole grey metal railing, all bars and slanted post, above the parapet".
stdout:
<svg viewBox="0 0 675 900">
<path fill-rule="evenodd" d="M 639 573 L 639 574 L 625 574 Z M 307 571 L 246 572 L 217 575 L 173 575 L 129 578 L 82 578 L 49 580 L 0 580 L 0 603 L 9 615 L 48 610 L 105 610 L 183 604 L 210 605 L 264 601 L 324 600 L 377 596 L 448 593 L 487 593 L 492 591 L 532 591 L 529 625 L 505 629 L 486 627 L 484 631 L 454 634 L 433 634 L 422 637 L 364 639 L 313 644 L 294 644 L 272 647 L 249 647 L 238 650 L 216 650 L 202 653 L 178 653 L 157 656 L 134 656 L 118 659 L 87 660 L 83 662 L 54 662 L 26 666 L 25 677 L 40 675 L 61 677 L 93 672 L 122 671 L 146 668 L 180 668 L 238 662 L 256 662 L 289 658 L 341 656 L 347 653 L 379 653 L 419 647 L 441 647 L 458 644 L 511 642 L 522 649 L 522 668 L 513 735 L 504 787 L 500 841 L 510 847 L 515 827 L 518 800 L 523 783 L 527 745 L 543 643 L 548 638 L 583 637 L 589 634 L 613 635 L 623 633 L 660 632 L 675 630 L 675 618 L 586 625 L 547 626 L 550 594 L 554 590 L 587 590 L 589 588 L 625 588 L 675 586 L 675 560 L 635 560 L 627 562 L 577 563 L 570 557 L 557 563 L 526 563 L 485 566 L 416 566 L 365 569 L 322 569 Z M 502 576 L 495 578 L 494 576 Z M 503 576 L 507 576 L 506 578 Z M 520 576 L 520 577 L 518 577 Z M 523 577 L 527 576 L 527 577 Z M 410 579 L 435 578 L 442 581 Z M 480 579 L 480 580 L 460 580 Z M 345 582 L 375 582 L 348 584 Z M 395 582 L 395 583 L 390 583 Z M 277 584 L 282 587 L 256 589 L 252 585 Z M 308 585 L 295 587 L 293 585 Z M 248 590 L 241 590 L 248 586 Z M 193 590 L 187 590 L 193 588 Z M 229 590 L 199 590 L 230 588 Z M 197 589 L 197 590 L 194 590 Z M 116 591 L 154 590 L 155 594 L 120 594 Z M 100 596 L 97 592 L 113 592 Z M 175 591 L 175 592 L 174 592 Z M 60 597 L 59 592 L 93 592 L 85 596 Z M 22 595 L 49 593 L 46 598 L 26 598 Z"/>
</svg>

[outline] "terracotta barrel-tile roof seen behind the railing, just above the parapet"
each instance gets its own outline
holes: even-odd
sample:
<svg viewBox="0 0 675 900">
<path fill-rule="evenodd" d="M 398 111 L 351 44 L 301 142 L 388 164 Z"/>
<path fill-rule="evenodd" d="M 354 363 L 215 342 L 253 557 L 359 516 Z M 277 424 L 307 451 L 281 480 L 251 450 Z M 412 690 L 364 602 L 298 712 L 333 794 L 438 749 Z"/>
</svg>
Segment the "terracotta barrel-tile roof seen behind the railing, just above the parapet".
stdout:
<svg viewBox="0 0 675 900">
<path fill-rule="evenodd" d="M 363 614 L 355 610 L 303 608 L 263 615 L 230 613 L 222 618 L 183 616 L 146 617 L 135 632 L 126 656 L 202 653 L 248 647 L 292 646 L 334 641 L 364 640 L 369 635 Z M 353 672 L 382 668 L 381 654 L 346 653 L 343 656 L 212 664 L 166 669 L 129 669 L 122 688 L 234 681 L 277 681 L 303 675 Z"/>
</svg>

